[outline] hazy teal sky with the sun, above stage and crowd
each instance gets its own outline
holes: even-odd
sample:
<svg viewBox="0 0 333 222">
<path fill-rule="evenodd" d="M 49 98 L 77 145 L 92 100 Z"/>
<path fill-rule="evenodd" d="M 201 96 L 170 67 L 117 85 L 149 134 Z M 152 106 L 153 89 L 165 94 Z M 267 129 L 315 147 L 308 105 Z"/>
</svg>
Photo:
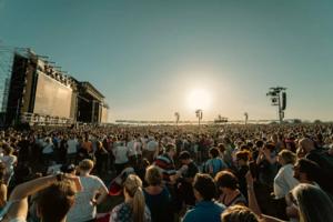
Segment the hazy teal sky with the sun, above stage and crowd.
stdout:
<svg viewBox="0 0 333 222">
<path fill-rule="evenodd" d="M 110 121 L 333 120 L 333 1 L 0 0 L 0 44 L 29 47 L 107 98 Z"/>
</svg>

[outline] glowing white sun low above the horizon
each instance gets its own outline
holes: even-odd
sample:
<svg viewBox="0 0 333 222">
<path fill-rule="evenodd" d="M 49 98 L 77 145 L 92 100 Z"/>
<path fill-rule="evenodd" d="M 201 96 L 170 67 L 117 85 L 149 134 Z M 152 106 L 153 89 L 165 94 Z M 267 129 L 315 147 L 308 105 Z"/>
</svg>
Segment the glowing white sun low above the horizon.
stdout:
<svg viewBox="0 0 333 222">
<path fill-rule="evenodd" d="M 188 94 L 188 105 L 191 110 L 209 109 L 211 104 L 211 94 L 205 89 L 193 89 Z"/>
</svg>

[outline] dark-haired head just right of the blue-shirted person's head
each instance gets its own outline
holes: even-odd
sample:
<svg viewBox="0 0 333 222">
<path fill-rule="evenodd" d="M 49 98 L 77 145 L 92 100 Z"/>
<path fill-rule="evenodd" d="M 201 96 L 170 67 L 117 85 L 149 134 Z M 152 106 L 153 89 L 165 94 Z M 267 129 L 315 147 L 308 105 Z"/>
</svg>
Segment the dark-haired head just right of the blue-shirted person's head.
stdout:
<svg viewBox="0 0 333 222">
<path fill-rule="evenodd" d="M 239 186 L 236 176 L 229 171 L 220 171 L 214 179 L 216 186 L 223 193 L 234 191 Z"/>
</svg>

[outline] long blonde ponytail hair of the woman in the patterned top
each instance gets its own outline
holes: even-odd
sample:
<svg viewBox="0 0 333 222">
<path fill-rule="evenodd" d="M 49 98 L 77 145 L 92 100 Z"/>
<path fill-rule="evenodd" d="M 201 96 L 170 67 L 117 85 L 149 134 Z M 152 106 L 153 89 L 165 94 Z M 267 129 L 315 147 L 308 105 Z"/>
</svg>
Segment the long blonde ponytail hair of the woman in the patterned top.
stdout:
<svg viewBox="0 0 333 222">
<path fill-rule="evenodd" d="M 138 175 L 130 174 L 125 182 L 124 189 L 127 193 L 133 199 L 131 202 L 133 210 L 133 221 L 143 222 L 144 221 L 144 195 L 142 191 L 142 181 Z"/>
</svg>

